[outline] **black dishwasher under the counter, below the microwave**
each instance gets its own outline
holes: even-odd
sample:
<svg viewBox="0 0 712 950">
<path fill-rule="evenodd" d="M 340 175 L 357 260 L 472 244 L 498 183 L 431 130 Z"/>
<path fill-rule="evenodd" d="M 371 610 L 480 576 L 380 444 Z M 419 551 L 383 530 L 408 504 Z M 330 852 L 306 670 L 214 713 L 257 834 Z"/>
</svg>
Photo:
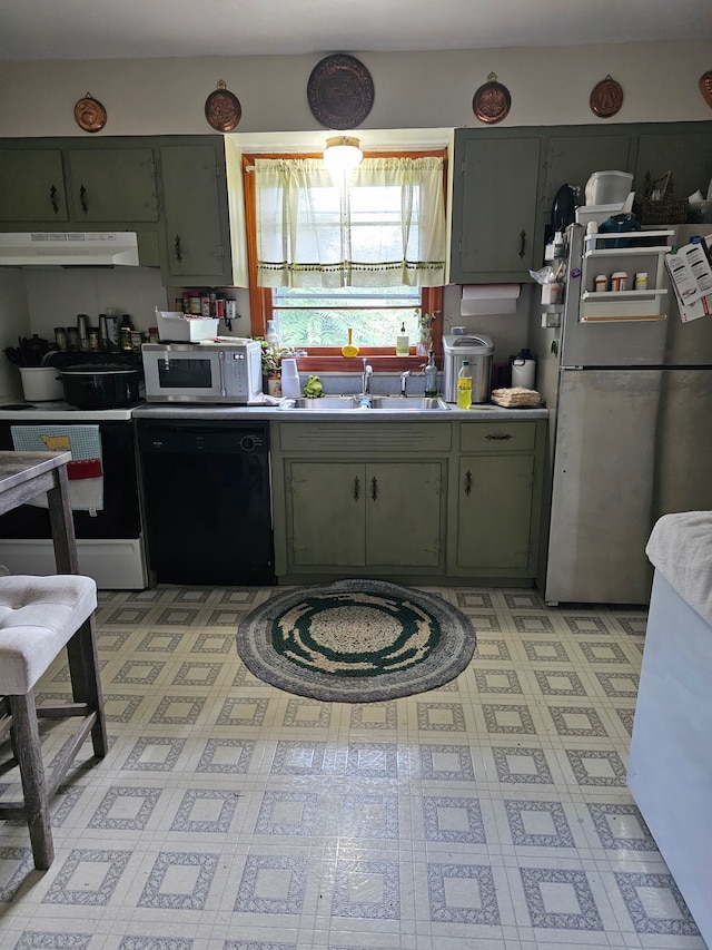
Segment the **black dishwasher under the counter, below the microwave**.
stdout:
<svg viewBox="0 0 712 950">
<path fill-rule="evenodd" d="M 137 421 L 158 584 L 271 585 L 269 428 Z"/>
</svg>

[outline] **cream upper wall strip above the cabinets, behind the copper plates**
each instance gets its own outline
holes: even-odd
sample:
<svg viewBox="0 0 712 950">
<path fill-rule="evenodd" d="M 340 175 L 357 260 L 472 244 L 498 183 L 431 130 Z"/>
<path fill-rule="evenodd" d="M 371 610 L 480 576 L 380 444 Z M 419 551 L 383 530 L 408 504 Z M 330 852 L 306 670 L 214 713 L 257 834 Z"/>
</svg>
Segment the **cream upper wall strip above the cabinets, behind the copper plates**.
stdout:
<svg viewBox="0 0 712 950">
<path fill-rule="evenodd" d="M 698 85 L 710 68 L 709 45 L 702 42 L 350 52 L 368 68 L 375 88 L 359 131 L 476 126 L 473 96 L 493 71 L 512 95 L 503 126 L 712 118 Z M 108 112 L 97 138 L 209 134 L 205 100 L 220 79 L 243 107 L 238 134 L 319 130 L 306 87 L 320 59 L 315 53 L 4 63 L 0 136 L 87 135 L 73 118 L 75 104 L 87 92 Z M 623 107 L 612 119 L 599 119 L 589 98 L 609 74 L 623 87 Z"/>
</svg>

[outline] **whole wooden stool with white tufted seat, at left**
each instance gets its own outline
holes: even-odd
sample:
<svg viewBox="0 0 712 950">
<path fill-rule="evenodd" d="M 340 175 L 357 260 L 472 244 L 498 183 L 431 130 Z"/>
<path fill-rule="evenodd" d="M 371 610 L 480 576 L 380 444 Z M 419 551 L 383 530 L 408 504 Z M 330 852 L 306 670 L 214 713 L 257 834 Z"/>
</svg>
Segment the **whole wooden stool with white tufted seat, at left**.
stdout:
<svg viewBox="0 0 712 950">
<path fill-rule="evenodd" d="M 0 741 L 8 734 L 22 782 L 21 802 L 0 803 L 0 819 L 23 819 L 34 866 L 55 858 L 49 804 L 91 733 L 95 755 L 108 750 L 97 662 L 97 586 L 80 575 L 0 577 Z M 34 686 L 67 648 L 73 703 L 39 709 Z M 44 774 L 38 716 L 79 723 L 49 775 Z"/>
</svg>

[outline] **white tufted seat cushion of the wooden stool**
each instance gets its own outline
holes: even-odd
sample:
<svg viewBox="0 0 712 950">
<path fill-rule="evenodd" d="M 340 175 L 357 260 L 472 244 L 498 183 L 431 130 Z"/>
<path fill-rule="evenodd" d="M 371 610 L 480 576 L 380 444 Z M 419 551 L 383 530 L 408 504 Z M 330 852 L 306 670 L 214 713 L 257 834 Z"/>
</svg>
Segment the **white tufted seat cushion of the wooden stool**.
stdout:
<svg viewBox="0 0 712 950">
<path fill-rule="evenodd" d="M 0 577 L 0 696 L 29 693 L 96 607 L 90 577 Z"/>
</svg>

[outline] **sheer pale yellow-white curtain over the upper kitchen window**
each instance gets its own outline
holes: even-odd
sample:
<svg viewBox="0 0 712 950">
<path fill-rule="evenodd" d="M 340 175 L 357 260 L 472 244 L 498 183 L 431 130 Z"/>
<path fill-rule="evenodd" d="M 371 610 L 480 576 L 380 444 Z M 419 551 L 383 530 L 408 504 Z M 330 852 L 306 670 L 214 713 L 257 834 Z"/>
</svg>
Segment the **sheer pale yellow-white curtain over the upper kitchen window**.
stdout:
<svg viewBox="0 0 712 950">
<path fill-rule="evenodd" d="M 317 158 L 255 160 L 263 287 L 445 283 L 442 158 L 364 158 L 337 183 Z"/>
</svg>

